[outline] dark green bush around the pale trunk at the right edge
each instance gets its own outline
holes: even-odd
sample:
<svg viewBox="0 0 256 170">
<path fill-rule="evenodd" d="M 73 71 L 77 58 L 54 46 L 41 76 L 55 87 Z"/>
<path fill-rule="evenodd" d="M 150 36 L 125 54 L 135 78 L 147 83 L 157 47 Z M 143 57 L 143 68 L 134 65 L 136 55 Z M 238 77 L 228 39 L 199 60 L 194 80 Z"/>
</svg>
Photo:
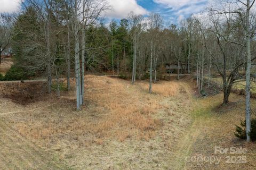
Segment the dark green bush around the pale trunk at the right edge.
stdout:
<svg viewBox="0 0 256 170">
<path fill-rule="evenodd" d="M 252 141 L 256 141 L 256 119 L 251 120 L 250 137 Z M 241 121 L 240 126 L 236 126 L 235 136 L 237 138 L 246 139 L 246 122 Z"/>
</svg>

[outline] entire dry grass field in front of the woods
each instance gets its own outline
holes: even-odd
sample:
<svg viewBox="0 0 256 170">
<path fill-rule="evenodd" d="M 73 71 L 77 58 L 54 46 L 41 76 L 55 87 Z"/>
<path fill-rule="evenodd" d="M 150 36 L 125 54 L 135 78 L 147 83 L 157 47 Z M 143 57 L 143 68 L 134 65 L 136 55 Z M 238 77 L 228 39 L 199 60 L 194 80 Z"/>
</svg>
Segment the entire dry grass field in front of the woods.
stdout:
<svg viewBox="0 0 256 170">
<path fill-rule="evenodd" d="M 0 169 L 256 167 L 255 143 L 234 136 L 244 117 L 242 96 L 231 95 L 232 103 L 219 107 L 221 94 L 196 98 L 189 79 L 157 82 L 151 95 L 146 81 L 133 86 L 93 75 L 85 81 L 85 106 L 79 112 L 75 89 L 62 91 L 58 99 L 38 82 L 0 84 Z M 245 147 L 249 163 L 185 161 L 214 154 L 214 146 Z"/>
</svg>

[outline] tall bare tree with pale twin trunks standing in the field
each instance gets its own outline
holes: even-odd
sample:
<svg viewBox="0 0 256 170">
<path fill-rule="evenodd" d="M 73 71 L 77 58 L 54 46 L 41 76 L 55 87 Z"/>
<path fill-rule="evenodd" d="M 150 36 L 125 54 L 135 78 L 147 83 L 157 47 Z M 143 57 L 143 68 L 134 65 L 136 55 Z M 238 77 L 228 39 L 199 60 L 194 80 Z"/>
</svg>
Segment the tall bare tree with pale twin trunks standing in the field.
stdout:
<svg viewBox="0 0 256 170">
<path fill-rule="evenodd" d="M 86 26 L 99 19 L 100 14 L 106 10 L 106 1 L 95 0 L 69 0 L 69 10 L 72 16 L 71 28 L 75 40 L 75 74 L 77 110 L 83 104 L 84 97 L 84 70 L 85 70 L 85 37 Z M 82 47 L 79 45 L 79 33 L 82 32 Z M 80 52 L 82 57 L 80 58 Z M 80 60 L 81 59 L 81 60 Z"/>
</svg>

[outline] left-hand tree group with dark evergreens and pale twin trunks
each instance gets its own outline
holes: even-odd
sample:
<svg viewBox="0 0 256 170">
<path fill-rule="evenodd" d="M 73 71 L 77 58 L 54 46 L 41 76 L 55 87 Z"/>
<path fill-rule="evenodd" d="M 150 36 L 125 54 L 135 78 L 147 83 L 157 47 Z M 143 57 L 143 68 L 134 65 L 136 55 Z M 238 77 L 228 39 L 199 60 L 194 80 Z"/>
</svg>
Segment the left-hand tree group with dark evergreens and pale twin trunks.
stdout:
<svg viewBox="0 0 256 170">
<path fill-rule="evenodd" d="M 26 0 L 22 7 L 13 25 L 12 49 L 17 64 L 27 71 L 45 73 L 49 93 L 55 77 L 58 96 L 59 78 L 66 74 L 70 89 L 70 70 L 74 66 L 79 110 L 84 97 L 85 57 L 93 48 L 90 38 L 95 39 L 89 35 L 101 29 L 94 25 L 108 7 L 105 0 Z"/>
</svg>

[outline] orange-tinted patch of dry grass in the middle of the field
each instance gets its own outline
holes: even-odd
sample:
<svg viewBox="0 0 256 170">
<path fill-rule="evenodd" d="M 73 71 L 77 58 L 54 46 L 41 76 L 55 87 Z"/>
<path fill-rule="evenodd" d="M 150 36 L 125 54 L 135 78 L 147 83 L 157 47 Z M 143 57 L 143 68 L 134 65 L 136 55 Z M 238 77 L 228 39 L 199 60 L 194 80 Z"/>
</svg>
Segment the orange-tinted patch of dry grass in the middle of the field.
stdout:
<svg viewBox="0 0 256 170">
<path fill-rule="evenodd" d="M 49 139 L 54 134 L 64 132 L 75 132 L 76 135 L 89 132 L 100 139 L 116 137 L 124 141 L 126 138 L 133 137 L 148 140 L 154 137 L 155 130 L 162 126 L 162 121 L 152 116 L 163 107 L 159 103 L 161 96 L 178 95 L 178 86 L 175 83 L 170 83 L 168 86 L 168 83 L 164 82 L 162 88 L 160 88 L 161 84 L 156 84 L 155 94 L 161 96 L 150 97 L 146 93 L 146 83 L 143 82 L 138 86 L 145 88 L 145 92 L 140 93 L 127 81 L 111 78 L 99 79 L 94 76 L 87 76 L 86 80 L 87 106 L 83 110 L 86 111 L 93 105 L 91 116 L 97 121 L 75 116 L 70 120 L 65 120 L 68 121 L 65 124 L 57 121 L 49 122 L 49 124 L 43 122 L 43 124 L 37 123 L 33 128 L 21 124 L 18 125 L 20 133 L 30 134 L 36 139 Z M 173 88 L 170 88 L 172 86 Z"/>
</svg>

